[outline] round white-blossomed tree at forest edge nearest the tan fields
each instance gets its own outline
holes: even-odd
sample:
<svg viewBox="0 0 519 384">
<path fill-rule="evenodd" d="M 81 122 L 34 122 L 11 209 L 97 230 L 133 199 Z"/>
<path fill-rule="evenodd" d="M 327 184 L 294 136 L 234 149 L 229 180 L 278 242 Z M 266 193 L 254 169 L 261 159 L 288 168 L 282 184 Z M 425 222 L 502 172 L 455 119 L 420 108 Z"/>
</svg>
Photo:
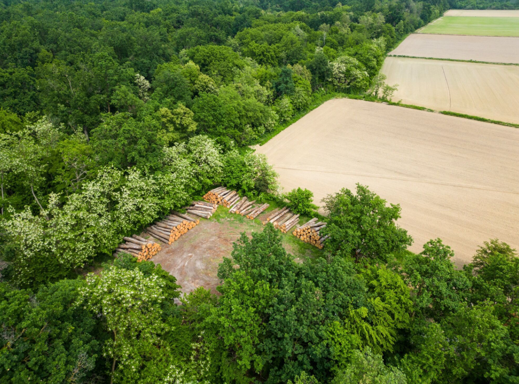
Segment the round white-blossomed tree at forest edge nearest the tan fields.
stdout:
<svg viewBox="0 0 519 384">
<path fill-rule="evenodd" d="M 359 91 L 367 88 L 370 77 L 364 65 L 350 56 L 341 56 L 331 63 L 332 84 L 341 91 Z"/>
</svg>

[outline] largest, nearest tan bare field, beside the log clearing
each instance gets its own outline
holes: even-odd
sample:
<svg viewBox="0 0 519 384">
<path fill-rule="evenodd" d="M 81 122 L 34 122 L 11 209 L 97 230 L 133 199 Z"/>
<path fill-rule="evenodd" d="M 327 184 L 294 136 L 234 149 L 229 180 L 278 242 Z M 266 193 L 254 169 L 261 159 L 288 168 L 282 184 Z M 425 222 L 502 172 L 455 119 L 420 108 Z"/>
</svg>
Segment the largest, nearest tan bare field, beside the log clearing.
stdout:
<svg viewBox="0 0 519 384">
<path fill-rule="evenodd" d="M 460 266 L 491 238 L 519 249 L 519 129 L 334 99 L 256 150 L 317 204 L 356 183 L 400 203 L 414 252 L 440 237 Z"/>
</svg>

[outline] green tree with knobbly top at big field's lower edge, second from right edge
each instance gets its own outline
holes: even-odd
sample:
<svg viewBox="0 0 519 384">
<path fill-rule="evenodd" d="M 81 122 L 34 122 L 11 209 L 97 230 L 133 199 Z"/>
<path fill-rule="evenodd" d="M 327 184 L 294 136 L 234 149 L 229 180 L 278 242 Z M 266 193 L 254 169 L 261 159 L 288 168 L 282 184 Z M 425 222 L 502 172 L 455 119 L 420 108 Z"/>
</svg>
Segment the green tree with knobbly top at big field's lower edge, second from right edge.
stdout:
<svg viewBox="0 0 519 384">
<path fill-rule="evenodd" d="M 413 286 L 414 310 L 441 320 L 467 305 L 470 281 L 454 268 L 454 252 L 441 239 L 429 240 L 420 254 L 406 257 L 402 276 Z"/>
</svg>

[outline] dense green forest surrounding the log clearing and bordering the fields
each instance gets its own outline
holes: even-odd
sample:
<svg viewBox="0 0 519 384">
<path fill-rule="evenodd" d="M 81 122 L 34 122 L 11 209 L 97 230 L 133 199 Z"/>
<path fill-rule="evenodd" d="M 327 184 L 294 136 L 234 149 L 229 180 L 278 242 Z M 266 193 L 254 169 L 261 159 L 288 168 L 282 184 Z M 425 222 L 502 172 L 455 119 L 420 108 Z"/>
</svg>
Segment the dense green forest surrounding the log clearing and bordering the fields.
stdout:
<svg viewBox="0 0 519 384">
<path fill-rule="evenodd" d="M 519 383 L 515 250 L 408 252 L 399 205 L 361 185 L 323 201 L 322 258 L 296 264 L 267 225 L 217 296 L 112 257 L 215 185 L 281 199 L 250 144 L 338 92 L 389 98 L 386 53 L 445 10 L 518 7 L 4 0 L 0 383 Z"/>
</svg>

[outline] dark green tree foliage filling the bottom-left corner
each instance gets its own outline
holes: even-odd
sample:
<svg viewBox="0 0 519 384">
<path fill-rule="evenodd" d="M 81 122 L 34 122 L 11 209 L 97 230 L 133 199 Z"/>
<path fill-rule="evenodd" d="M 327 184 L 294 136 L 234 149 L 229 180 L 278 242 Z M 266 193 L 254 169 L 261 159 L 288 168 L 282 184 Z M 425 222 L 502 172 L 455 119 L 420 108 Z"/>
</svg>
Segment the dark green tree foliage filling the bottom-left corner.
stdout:
<svg viewBox="0 0 519 384">
<path fill-rule="evenodd" d="M 80 280 L 33 293 L 0 283 L 0 383 L 85 382 L 101 359 L 99 321 L 74 306 Z"/>
</svg>

